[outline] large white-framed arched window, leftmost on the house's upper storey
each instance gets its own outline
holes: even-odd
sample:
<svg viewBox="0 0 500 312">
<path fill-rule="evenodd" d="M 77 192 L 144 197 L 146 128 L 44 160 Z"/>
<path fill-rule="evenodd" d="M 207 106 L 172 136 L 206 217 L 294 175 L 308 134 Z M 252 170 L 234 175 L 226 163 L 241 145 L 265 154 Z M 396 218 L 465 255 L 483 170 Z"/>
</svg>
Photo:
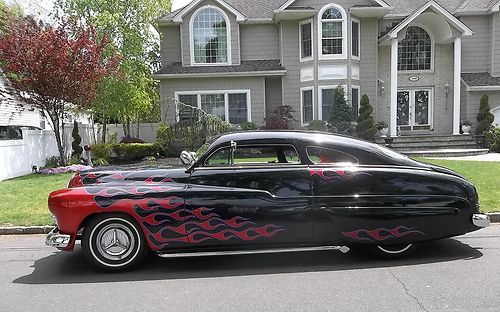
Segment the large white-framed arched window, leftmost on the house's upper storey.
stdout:
<svg viewBox="0 0 500 312">
<path fill-rule="evenodd" d="M 192 58 L 195 64 L 229 62 L 229 29 L 226 17 L 207 7 L 195 14 L 191 27 Z"/>
</svg>

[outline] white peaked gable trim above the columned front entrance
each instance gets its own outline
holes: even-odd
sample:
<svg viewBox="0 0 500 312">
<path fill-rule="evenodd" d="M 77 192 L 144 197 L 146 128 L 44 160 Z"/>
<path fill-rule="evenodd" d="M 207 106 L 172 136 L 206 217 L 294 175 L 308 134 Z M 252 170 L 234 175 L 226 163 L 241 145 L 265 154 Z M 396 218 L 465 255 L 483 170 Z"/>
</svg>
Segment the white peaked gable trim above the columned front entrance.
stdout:
<svg viewBox="0 0 500 312">
<path fill-rule="evenodd" d="M 462 23 L 458 18 L 453 16 L 448 10 L 443 8 L 436 1 L 429 1 L 425 5 L 421 6 L 419 9 L 415 10 L 412 14 L 408 15 L 404 20 L 401 21 L 396 27 L 391 29 L 386 35 L 384 35 L 381 40 L 385 38 L 397 38 L 398 33 L 403 30 L 406 26 L 408 26 L 413 20 L 415 20 L 420 14 L 425 12 L 428 9 L 433 9 L 437 11 L 439 14 L 443 15 L 446 20 L 455 26 L 464 36 L 472 36 L 472 30 Z"/>
</svg>

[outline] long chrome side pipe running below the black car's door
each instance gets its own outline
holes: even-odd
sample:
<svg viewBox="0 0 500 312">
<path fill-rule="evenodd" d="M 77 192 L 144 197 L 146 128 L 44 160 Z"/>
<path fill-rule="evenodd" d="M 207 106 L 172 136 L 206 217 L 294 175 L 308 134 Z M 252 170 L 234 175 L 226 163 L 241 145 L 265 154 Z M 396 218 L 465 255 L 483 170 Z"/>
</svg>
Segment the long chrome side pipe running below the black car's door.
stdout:
<svg viewBox="0 0 500 312">
<path fill-rule="evenodd" d="M 180 257 L 208 257 L 208 256 L 228 256 L 228 255 L 253 255 L 283 252 L 301 252 L 317 250 L 337 250 L 341 253 L 349 252 L 347 246 L 321 246 L 321 247 L 298 247 L 298 248 L 277 248 L 277 249 L 256 249 L 256 250 L 228 250 L 228 251 L 207 251 L 207 252 L 179 252 L 179 253 L 158 253 L 162 258 Z"/>
</svg>

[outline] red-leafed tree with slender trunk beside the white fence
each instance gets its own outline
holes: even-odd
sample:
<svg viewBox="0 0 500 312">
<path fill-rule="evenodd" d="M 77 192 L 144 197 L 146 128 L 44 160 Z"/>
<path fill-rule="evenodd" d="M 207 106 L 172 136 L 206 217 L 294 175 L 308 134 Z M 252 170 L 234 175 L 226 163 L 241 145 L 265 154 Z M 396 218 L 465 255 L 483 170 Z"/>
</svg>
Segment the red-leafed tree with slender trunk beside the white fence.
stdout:
<svg viewBox="0 0 500 312">
<path fill-rule="evenodd" d="M 51 121 L 61 165 L 61 129 L 69 105 L 86 108 L 104 77 L 116 72 L 118 57 L 107 39 L 90 27 L 12 21 L 0 37 L 0 62 L 13 86 Z"/>
</svg>

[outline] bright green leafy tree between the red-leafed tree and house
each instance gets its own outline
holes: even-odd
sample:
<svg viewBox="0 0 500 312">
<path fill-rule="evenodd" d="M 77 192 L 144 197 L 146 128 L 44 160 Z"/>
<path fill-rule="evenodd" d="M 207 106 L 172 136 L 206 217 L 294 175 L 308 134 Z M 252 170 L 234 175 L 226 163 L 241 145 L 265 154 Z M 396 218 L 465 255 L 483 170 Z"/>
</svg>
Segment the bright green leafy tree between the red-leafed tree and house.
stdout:
<svg viewBox="0 0 500 312">
<path fill-rule="evenodd" d="M 122 76 L 105 79 L 93 102 L 97 120 L 122 123 L 125 135 L 133 122 L 158 121 L 158 82 L 151 72 L 159 67 L 159 42 L 151 25 L 170 11 L 170 0 L 56 0 L 55 7 L 110 37 L 122 56 Z"/>
</svg>

